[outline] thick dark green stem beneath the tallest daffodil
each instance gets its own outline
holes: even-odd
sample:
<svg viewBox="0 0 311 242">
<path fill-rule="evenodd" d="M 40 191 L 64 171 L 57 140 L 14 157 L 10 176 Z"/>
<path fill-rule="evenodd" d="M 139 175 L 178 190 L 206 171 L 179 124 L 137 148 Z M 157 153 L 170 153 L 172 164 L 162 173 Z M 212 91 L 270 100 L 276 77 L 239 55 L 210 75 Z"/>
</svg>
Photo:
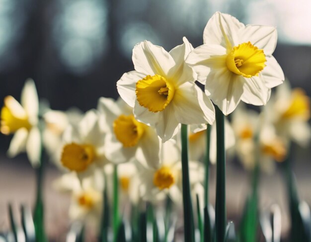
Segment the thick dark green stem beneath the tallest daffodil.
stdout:
<svg viewBox="0 0 311 242">
<path fill-rule="evenodd" d="M 216 109 L 217 128 L 217 180 L 216 180 L 216 241 L 224 242 L 226 233 L 226 153 L 225 153 L 225 117 Z"/>
</svg>

